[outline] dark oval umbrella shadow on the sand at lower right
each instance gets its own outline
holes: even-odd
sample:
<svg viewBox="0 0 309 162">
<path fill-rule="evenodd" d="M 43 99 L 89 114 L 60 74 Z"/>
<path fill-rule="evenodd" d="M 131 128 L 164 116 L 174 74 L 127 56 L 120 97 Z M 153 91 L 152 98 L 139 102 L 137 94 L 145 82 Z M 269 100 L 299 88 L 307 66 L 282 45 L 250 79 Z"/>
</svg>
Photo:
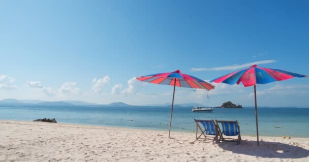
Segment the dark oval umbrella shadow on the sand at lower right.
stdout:
<svg viewBox="0 0 309 162">
<path fill-rule="evenodd" d="M 233 153 L 252 155 L 264 158 L 302 158 L 309 156 L 309 150 L 306 150 L 298 143 L 289 145 L 280 142 L 260 141 L 260 146 L 257 146 L 257 141 L 241 141 L 240 145 L 235 145 L 235 142 L 220 142 L 218 145 L 224 150 L 232 151 Z"/>
</svg>

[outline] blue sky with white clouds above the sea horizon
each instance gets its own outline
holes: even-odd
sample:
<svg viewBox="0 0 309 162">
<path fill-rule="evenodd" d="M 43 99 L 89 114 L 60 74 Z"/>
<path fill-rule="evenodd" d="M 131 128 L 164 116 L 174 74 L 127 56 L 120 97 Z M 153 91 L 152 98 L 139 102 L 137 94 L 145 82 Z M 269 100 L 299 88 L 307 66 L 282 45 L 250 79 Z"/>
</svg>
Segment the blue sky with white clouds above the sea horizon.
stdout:
<svg viewBox="0 0 309 162">
<path fill-rule="evenodd" d="M 211 80 L 253 63 L 308 75 L 306 1 L 0 2 L 0 99 L 169 103 L 136 76 Z M 308 78 L 258 85 L 258 104 L 309 106 Z M 253 87 L 176 91 L 175 103 L 254 105 Z M 178 89 L 190 90 L 190 89 Z"/>
</svg>

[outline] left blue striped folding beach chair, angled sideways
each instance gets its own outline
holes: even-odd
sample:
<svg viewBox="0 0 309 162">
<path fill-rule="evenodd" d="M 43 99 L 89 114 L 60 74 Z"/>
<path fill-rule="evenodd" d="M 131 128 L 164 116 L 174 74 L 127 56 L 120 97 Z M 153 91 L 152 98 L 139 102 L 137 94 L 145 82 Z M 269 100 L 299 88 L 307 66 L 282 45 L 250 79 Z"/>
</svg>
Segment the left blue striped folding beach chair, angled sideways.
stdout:
<svg viewBox="0 0 309 162">
<path fill-rule="evenodd" d="M 198 140 L 201 138 L 202 135 L 204 135 L 205 138 L 201 138 L 201 139 L 207 139 L 207 136 L 208 138 L 213 138 L 212 142 L 217 142 L 218 140 L 218 129 L 217 129 L 217 125 L 214 123 L 214 120 L 197 120 L 197 119 L 194 119 L 195 123 L 196 123 L 196 135 L 195 135 L 195 140 Z M 202 129 L 200 127 L 200 124 L 202 124 L 203 128 Z M 197 137 L 197 134 L 198 134 L 198 129 L 200 129 L 200 131 L 202 132 L 200 134 L 199 137 Z M 207 136 L 206 136 L 207 135 Z"/>
</svg>

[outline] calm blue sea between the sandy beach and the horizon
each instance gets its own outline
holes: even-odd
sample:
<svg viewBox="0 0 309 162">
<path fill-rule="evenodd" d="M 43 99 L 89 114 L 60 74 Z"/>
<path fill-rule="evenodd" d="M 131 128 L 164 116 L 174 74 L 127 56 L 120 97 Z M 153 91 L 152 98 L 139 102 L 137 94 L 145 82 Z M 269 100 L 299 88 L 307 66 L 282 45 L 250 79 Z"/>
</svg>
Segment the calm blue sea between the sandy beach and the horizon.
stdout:
<svg viewBox="0 0 309 162">
<path fill-rule="evenodd" d="M 170 112 L 170 107 L 0 106 L 0 119 L 32 121 L 46 117 L 56 118 L 58 123 L 168 131 Z M 259 107 L 258 116 L 261 136 L 309 137 L 309 108 Z M 207 113 L 174 107 L 172 131 L 192 132 L 194 118 L 238 120 L 242 135 L 256 135 L 254 108 L 215 108 Z"/>
</svg>

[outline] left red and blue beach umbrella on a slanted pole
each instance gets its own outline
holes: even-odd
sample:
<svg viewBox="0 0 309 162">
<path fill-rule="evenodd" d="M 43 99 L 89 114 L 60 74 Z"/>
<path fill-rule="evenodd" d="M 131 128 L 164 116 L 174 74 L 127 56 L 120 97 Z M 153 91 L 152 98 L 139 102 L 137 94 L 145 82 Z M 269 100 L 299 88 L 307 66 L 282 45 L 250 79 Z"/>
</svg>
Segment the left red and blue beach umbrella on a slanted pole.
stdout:
<svg viewBox="0 0 309 162">
<path fill-rule="evenodd" d="M 173 72 L 165 72 L 165 73 L 157 73 L 157 74 L 139 76 L 137 77 L 137 79 L 143 82 L 148 82 L 148 83 L 153 83 L 153 84 L 174 86 L 168 138 L 170 138 L 170 133 L 171 133 L 175 87 L 187 87 L 187 88 L 196 88 L 196 89 L 204 89 L 204 90 L 214 89 L 214 86 L 211 85 L 210 83 L 207 83 L 204 80 L 199 79 L 197 77 L 181 73 L 180 70 L 176 70 Z"/>
</svg>

